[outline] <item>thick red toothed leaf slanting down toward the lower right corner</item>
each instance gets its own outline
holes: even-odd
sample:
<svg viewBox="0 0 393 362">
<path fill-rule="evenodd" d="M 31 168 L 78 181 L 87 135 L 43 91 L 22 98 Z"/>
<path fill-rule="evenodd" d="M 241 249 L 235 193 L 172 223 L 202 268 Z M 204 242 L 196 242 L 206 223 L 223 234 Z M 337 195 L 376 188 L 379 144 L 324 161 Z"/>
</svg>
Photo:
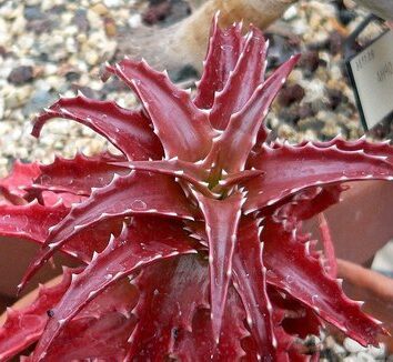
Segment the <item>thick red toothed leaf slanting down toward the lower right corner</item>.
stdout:
<svg viewBox="0 0 393 362">
<path fill-rule="evenodd" d="M 306 245 L 296 240 L 295 230 L 288 232 L 280 223 L 265 219 L 261 240 L 270 284 L 310 306 L 360 343 L 376 343 L 383 329 L 361 311 L 359 303 L 350 301 L 337 281 L 308 254 Z"/>
</svg>

